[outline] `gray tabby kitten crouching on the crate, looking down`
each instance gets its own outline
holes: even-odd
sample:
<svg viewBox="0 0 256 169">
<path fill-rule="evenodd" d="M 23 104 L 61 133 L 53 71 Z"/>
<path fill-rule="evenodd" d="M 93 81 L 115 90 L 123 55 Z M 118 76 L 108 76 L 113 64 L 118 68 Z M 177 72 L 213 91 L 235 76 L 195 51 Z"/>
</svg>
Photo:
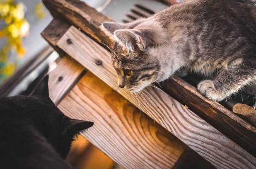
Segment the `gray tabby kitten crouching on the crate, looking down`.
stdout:
<svg viewBox="0 0 256 169">
<path fill-rule="evenodd" d="M 187 0 L 132 23 L 102 24 L 114 41 L 118 86 L 140 91 L 180 71 L 221 101 L 256 81 L 256 6 L 250 0 Z"/>
</svg>

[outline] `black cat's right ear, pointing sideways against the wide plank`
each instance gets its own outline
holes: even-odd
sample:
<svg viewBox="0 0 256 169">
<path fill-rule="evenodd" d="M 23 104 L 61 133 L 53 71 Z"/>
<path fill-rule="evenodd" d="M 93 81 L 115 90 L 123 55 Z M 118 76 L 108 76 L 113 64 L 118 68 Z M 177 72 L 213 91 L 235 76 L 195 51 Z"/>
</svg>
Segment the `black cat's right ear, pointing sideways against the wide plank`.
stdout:
<svg viewBox="0 0 256 169">
<path fill-rule="evenodd" d="M 67 132 L 71 133 L 78 133 L 82 130 L 88 129 L 91 126 L 93 126 L 93 122 L 91 121 L 84 121 L 84 120 L 76 120 L 76 119 L 70 119 L 69 121 L 69 127 Z"/>
</svg>

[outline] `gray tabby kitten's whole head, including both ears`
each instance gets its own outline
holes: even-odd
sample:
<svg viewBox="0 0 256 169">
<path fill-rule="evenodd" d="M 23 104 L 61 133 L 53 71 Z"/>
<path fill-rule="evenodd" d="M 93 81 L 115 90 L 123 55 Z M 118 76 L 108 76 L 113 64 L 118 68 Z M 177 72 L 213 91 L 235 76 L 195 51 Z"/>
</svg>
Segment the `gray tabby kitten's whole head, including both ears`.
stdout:
<svg viewBox="0 0 256 169">
<path fill-rule="evenodd" d="M 161 59 L 167 39 L 166 31 L 155 21 L 134 23 L 105 22 L 102 30 L 113 40 L 112 63 L 118 86 L 138 92 L 145 86 L 168 78 Z"/>
</svg>

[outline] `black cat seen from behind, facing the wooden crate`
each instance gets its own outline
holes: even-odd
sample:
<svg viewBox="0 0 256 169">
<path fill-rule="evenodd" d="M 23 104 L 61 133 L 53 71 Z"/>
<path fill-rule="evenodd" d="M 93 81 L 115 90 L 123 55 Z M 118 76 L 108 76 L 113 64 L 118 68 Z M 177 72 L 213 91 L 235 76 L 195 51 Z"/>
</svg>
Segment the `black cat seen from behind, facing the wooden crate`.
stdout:
<svg viewBox="0 0 256 169">
<path fill-rule="evenodd" d="M 48 75 L 29 96 L 0 98 L 0 168 L 71 169 L 73 137 L 93 122 L 70 119 L 49 98 Z"/>
</svg>

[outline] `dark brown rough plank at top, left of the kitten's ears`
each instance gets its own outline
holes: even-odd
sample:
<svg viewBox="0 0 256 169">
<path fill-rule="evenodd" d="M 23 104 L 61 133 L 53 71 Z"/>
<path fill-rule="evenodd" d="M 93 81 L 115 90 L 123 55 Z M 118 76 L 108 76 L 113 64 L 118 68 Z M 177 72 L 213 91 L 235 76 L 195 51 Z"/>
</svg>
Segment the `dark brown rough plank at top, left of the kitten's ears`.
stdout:
<svg viewBox="0 0 256 169">
<path fill-rule="evenodd" d="M 52 16 L 65 19 L 94 40 L 105 44 L 111 43 L 111 40 L 103 38 L 105 34 L 98 28 L 103 22 L 113 20 L 86 3 L 80 0 L 43 0 L 43 3 Z"/>
</svg>

